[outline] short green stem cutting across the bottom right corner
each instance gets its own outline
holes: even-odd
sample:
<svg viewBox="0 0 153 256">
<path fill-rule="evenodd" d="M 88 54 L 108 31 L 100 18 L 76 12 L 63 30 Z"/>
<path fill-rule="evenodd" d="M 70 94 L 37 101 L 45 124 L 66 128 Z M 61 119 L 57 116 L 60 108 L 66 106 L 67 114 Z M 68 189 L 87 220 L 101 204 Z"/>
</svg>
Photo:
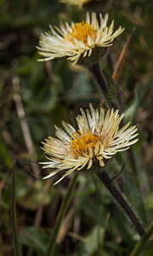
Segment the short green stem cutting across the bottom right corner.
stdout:
<svg viewBox="0 0 153 256">
<path fill-rule="evenodd" d="M 149 241 L 150 236 L 153 232 L 153 223 L 150 224 L 148 230 L 144 233 L 144 235 L 141 237 L 139 242 L 137 243 L 136 247 L 134 247 L 133 252 L 130 256 L 139 256 L 140 253 L 142 253 L 144 246 L 146 245 L 147 241 Z"/>
</svg>

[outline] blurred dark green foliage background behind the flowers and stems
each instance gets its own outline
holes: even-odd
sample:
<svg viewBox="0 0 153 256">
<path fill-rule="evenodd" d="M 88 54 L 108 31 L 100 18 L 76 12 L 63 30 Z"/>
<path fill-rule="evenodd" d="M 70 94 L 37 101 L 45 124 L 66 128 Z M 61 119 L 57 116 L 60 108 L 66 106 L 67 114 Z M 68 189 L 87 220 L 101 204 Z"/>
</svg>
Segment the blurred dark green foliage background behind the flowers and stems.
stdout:
<svg viewBox="0 0 153 256">
<path fill-rule="evenodd" d="M 86 11 L 109 12 L 115 28 L 125 27 L 102 63 L 112 74 L 127 37 L 133 33 L 118 82 L 126 119 L 139 128 L 133 146 L 136 169 L 127 154 L 117 154 L 109 172 L 122 169 L 116 183 L 146 226 L 153 214 L 152 83 L 153 3 L 146 0 L 92 1 L 82 9 L 55 0 L 0 1 L 0 255 L 14 255 L 11 230 L 11 172 L 16 162 L 17 231 L 23 255 L 43 255 L 48 237 L 71 177 L 53 186 L 42 180 L 45 160 L 41 142 L 54 136 L 61 120 L 74 124 L 80 107 L 99 106 L 103 96 L 92 74 L 72 67 L 65 58 L 38 62 L 36 45 L 41 32 L 59 20 L 80 21 Z M 109 24 L 110 24 L 109 23 Z M 56 181 L 59 177 L 54 177 Z M 106 217 L 109 218 L 105 231 Z M 105 231 L 105 238 L 104 238 Z M 109 192 L 91 174 L 79 176 L 77 189 L 58 236 L 56 255 L 129 255 L 139 236 L 112 201 Z M 103 251 L 103 252 L 102 252 Z M 99 252 L 102 252 L 100 254 Z M 142 255 L 147 254 L 147 248 Z"/>
</svg>

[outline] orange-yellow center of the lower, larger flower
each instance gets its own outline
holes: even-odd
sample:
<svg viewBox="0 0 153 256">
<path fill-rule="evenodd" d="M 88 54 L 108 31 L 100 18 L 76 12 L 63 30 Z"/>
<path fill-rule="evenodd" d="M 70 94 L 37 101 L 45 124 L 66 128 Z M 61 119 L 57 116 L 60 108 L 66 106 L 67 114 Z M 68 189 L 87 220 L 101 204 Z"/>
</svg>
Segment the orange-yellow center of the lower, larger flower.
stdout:
<svg viewBox="0 0 153 256">
<path fill-rule="evenodd" d="M 88 130 L 88 133 L 83 131 L 82 133 L 80 130 L 78 130 L 81 134 L 81 137 L 77 134 L 77 131 L 73 133 L 74 138 L 71 139 L 70 143 L 70 150 L 72 153 L 74 153 L 77 156 L 83 155 L 83 153 L 88 153 L 88 148 L 95 148 L 95 145 L 97 142 L 100 141 L 100 138 L 94 134 L 90 130 Z"/>
</svg>

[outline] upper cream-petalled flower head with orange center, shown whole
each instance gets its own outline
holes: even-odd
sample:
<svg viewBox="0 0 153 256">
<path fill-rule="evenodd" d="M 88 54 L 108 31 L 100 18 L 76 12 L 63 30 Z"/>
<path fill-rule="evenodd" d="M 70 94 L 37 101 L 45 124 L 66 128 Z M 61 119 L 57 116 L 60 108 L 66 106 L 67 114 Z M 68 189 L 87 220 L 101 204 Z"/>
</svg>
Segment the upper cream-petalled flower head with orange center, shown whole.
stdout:
<svg viewBox="0 0 153 256">
<path fill-rule="evenodd" d="M 37 47 L 39 54 L 45 57 L 39 61 L 67 56 L 75 65 L 81 57 L 89 57 L 94 49 L 111 46 L 114 38 L 119 36 L 124 28 L 120 26 L 113 32 L 114 20 L 110 26 L 107 26 L 107 20 L 108 14 L 104 18 L 99 14 L 98 20 L 93 12 L 91 19 L 87 13 L 85 21 L 71 22 L 71 26 L 67 22 L 60 22 L 59 27 L 50 26 L 50 31 L 41 35 Z"/>
</svg>

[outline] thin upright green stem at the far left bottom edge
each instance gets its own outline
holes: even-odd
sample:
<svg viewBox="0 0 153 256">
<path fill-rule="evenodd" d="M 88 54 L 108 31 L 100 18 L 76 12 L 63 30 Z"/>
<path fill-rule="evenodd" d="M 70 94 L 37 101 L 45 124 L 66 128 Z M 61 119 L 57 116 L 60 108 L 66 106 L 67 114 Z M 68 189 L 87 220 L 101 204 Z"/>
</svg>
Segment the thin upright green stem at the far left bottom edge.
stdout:
<svg viewBox="0 0 153 256">
<path fill-rule="evenodd" d="M 13 231 L 14 254 L 15 254 L 15 256 L 20 256 L 20 249 L 19 249 L 19 244 L 18 244 L 17 234 L 16 234 L 14 170 L 15 170 L 15 163 L 14 163 L 13 169 L 12 169 L 12 210 L 11 210 L 11 213 L 12 213 L 12 231 Z"/>
</svg>

